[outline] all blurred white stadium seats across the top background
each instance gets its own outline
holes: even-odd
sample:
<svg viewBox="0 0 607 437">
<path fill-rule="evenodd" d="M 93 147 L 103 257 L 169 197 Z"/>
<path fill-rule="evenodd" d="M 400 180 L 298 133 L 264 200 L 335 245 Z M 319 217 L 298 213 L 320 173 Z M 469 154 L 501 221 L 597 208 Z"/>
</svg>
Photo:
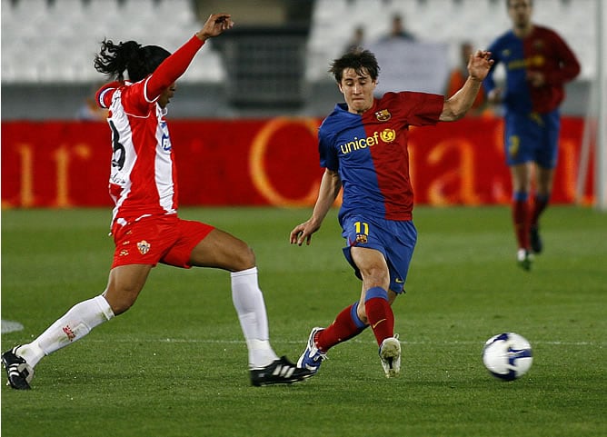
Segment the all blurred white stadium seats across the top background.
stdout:
<svg viewBox="0 0 607 437">
<path fill-rule="evenodd" d="M 588 79 L 597 65 L 592 44 L 596 2 L 581 1 L 583 6 L 572 0 L 535 0 L 534 20 L 565 37 L 580 57 L 582 78 Z M 388 32 L 393 14 L 403 15 L 405 26 L 420 40 L 448 43 L 453 65 L 464 40 L 484 47 L 510 27 L 501 0 L 315 0 L 307 80 L 331 80 L 328 64 L 340 55 L 354 28 L 363 25 L 365 41 L 371 42 Z M 171 25 L 166 25 L 167 17 Z M 174 51 L 200 25 L 190 0 L 2 0 L 2 82 L 62 80 L 61 72 L 69 73 L 65 81 L 95 80 L 95 70 L 86 74 L 85 65 L 104 37 Z M 61 54 L 62 47 L 73 53 Z M 188 80 L 214 82 L 225 76 L 219 55 L 210 51 L 209 57 L 214 59 L 207 70 L 193 70 Z"/>
</svg>

